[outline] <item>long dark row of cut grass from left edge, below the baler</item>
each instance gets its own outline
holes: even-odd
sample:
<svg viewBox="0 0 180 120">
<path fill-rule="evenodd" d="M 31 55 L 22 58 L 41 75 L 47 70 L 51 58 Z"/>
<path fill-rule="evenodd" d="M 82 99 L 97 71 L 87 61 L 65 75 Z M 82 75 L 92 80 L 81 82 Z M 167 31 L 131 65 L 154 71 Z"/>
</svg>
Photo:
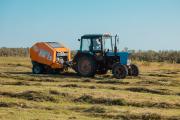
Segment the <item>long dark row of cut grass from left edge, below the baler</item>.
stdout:
<svg viewBox="0 0 180 120">
<path fill-rule="evenodd" d="M 57 102 L 57 99 L 55 99 L 54 97 L 45 94 L 43 92 L 37 92 L 37 91 L 24 91 L 20 93 L 0 92 L 0 95 L 32 100 L 37 102 L 43 102 L 43 101 Z"/>
</svg>

